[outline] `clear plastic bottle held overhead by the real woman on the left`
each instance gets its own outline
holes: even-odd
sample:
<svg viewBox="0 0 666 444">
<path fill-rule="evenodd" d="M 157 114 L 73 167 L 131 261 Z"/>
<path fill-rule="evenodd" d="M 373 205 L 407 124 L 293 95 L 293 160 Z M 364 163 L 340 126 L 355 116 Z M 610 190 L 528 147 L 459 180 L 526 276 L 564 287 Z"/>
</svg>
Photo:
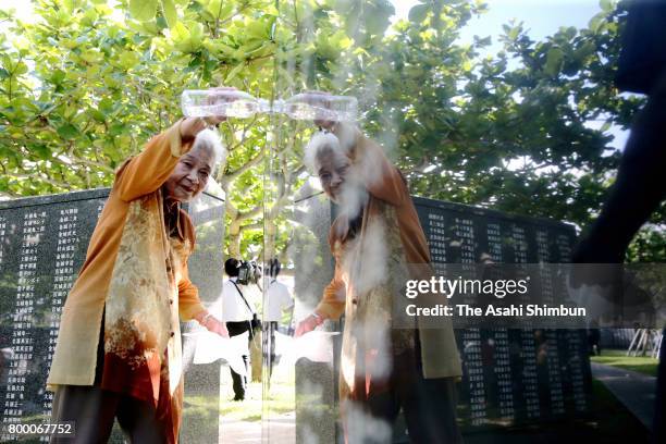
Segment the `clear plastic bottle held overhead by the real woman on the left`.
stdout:
<svg viewBox="0 0 666 444">
<path fill-rule="evenodd" d="M 224 89 L 186 89 L 181 96 L 183 115 L 188 118 L 224 116 L 247 119 L 264 111 L 266 100 L 247 92 Z"/>
</svg>

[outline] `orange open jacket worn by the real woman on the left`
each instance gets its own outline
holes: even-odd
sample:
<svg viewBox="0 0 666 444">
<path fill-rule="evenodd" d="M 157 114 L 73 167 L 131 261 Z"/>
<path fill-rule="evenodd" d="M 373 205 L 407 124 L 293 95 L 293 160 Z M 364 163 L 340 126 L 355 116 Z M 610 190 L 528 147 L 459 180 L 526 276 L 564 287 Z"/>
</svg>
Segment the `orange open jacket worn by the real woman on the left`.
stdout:
<svg viewBox="0 0 666 444">
<path fill-rule="evenodd" d="M 178 313 L 184 320 L 192 319 L 203 307 L 187 273 L 187 256 L 194 248 L 192 221 L 186 214 L 182 218 L 189 245 L 170 261 L 174 254 L 164 230 L 160 187 L 190 147 L 181 139 L 178 122 L 155 136 L 116 174 L 86 261 L 64 305 L 49 388 L 92 385 L 104 306 L 107 334 L 109 326 L 126 318 L 144 337 L 155 336 L 148 338 L 150 346 L 169 349 L 172 371 L 181 371 L 180 334 L 175 334 Z M 169 270 L 169 262 L 177 267 Z M 150 305 L 135 304 L 146 295 L 151 297 Z M 175 303 L 170 304 L 174 296 Z M 127 307 L 144 311 L 133 313 Z"/>
</svg>

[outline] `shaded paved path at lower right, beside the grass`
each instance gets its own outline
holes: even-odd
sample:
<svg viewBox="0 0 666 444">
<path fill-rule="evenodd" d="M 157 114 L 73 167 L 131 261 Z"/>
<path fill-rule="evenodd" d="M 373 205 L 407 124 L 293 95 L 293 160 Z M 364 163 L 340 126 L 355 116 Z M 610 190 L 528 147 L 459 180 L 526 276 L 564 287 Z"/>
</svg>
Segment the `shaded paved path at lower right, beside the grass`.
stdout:
<svg viewBox="0 0 666 444">
<path fill-rule="evenodd" d="M 603 382 L 648 430 L 652 430 L 656 397 L 655 377 L 596 362 L 592 362 L 592 377 Z"/>
</svg>

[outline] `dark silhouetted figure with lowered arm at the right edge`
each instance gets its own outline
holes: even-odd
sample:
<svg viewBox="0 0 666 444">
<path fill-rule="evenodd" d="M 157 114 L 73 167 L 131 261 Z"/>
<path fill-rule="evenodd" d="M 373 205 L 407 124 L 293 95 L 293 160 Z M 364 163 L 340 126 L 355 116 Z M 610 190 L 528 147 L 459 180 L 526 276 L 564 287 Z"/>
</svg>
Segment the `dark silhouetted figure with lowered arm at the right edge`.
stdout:
<svg viewBox="0 0 666 444">
<path fill-rule="evenodd" d="M 599 219 L 572 255 L 576 263 L 621 263 L 629 243 L 666 198 L 666 0 L 630 3 L 616 84 L 648 95 L 637 115 L 617 180 Z M 579 268 L 580 270 L 580 268 Z M 585 282 L 575 272 L 571 283 Z M 590 274 L 588 274 L 590 276 Z M 653 441 L 666 442 L 666 362 L 659 354 Z"/>
</svg>

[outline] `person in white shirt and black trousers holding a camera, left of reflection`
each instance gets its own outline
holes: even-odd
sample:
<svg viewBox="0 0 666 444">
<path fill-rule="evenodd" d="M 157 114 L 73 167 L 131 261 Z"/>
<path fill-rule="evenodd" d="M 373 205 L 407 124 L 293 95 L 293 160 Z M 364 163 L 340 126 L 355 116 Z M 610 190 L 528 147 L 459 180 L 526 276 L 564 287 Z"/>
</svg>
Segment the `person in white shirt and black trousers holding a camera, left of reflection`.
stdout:
<svg viewBox="0 0 666 444">
<path fill-rule="evenodd" d="M 252 336 L 251 319 L 254 309 L 244 295 L 243 285 L 237 282 L 239 267 L 240 261 L 234 258 L 229 258 L 224 262 L 224 272 L 229 275 L 229 280 L 222 284 L 222 320 L 226 323 L 230 337 L 247 332 L 249 346 L 249 340 Z M 234 400 L 245 399 L 248 361 L 249 349 L 243 354 L 245 374 L 238 374 L 230 367 L 234 387 Z"/>
</svg>

